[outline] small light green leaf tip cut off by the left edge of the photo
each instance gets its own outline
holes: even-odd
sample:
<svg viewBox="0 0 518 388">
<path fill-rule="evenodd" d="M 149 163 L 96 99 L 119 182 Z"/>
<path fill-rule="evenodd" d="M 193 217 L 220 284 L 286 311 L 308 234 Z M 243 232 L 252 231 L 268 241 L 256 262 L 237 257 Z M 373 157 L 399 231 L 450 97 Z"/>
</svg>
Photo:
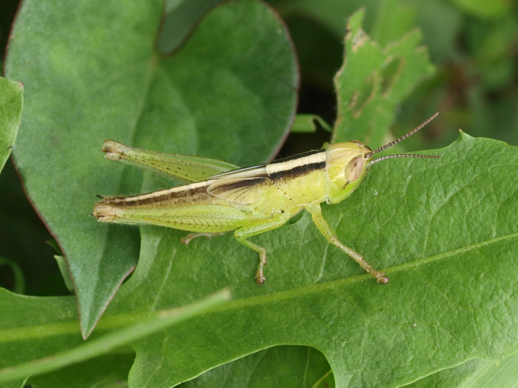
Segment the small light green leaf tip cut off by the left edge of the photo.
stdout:
<svg viewBox="0 0 518 388">
<path fill-rule="evenodd" d="M 23 107 L 23 84 L 0 77 L 0 171 L 15 144 Z"/>
</svg>

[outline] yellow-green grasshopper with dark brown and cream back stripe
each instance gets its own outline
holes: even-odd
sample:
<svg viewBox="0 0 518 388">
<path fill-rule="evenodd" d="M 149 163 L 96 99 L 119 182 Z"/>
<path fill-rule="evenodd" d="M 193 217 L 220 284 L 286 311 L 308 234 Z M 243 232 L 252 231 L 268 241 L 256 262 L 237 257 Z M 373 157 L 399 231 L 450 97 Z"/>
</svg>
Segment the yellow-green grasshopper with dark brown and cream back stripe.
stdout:
<svg viewBox="0 0 518 388">
<path fill-rule="evenodd" d="M 382 160 L 440 157 L 393 154 L 373 159 L 376 153 L 419 131 L 437 114 L 375 151 L 352 140 L 246 168 L 204 157 L 145 151 L 106 140 L 103 151 L 108 159 L 194 183 L 135 196 L 101 197 L 93 214 L 100 222 L 153 224 L 194 232 L 182 238 L 183 243 L 198 236 L 235 231 L 240 243 L 259 254 L 255 279 L 263 284 L 266 249 L 249 238 L 282 226 L 306 209 L 327 241 L 354 258 L 378 282 L 386 283 L 389 278 L 384 272 L 372 268 L 362 255 L 338 240 L 322 215 L 320 203 L 337 204 L 347 198 L 369 168 Z"/>
</svg>

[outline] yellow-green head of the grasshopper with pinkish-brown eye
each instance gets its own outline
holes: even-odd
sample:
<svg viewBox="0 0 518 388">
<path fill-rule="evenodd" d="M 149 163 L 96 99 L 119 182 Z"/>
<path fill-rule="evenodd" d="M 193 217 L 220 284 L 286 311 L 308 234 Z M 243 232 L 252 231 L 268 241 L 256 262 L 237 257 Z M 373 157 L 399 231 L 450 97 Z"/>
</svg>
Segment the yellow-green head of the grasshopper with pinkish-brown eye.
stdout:
<svg viewBox="0 0 518 388">
<path fill-rule="evenodd" d="M 360 141 L 332 144 L 325 150 L 326 202 L 337 204 L 362 182 L 374 153 Z"/>
</svg>

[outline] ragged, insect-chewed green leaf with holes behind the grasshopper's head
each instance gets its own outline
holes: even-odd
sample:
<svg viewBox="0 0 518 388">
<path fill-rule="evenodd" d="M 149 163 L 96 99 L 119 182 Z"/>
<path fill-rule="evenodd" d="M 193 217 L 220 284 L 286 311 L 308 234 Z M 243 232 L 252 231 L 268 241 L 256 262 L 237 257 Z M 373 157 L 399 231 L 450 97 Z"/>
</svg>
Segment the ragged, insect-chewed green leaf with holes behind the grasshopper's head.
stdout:
<svg viewBox="0 0 518 388">
<path fill-rule="evenodd" d="M 361 139 L 372 148 L 383 144 L 395 108 L 434 72 L 421 34 L 413 31 L 381 48 L 363 30 L 364 11 L 349 19 L 346 53 L 335 76 L 338 117 L 333 142 Z"/>
</svg>

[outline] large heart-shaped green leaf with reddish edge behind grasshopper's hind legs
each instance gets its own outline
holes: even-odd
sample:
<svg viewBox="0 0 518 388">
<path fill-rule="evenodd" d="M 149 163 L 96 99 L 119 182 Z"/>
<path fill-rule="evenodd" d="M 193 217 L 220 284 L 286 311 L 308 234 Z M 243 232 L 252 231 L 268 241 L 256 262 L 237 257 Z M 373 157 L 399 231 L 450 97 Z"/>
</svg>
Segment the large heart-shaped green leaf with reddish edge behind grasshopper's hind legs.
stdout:
<svg viewBox="0 0 518 388">
<path fill-rule="evenodd" d="M 161 2 L 28 0 L 10 41 L 6 73 L 29 90 L 15 161 L 66 257 L 85 336 L 138 257 L 138 229 L 89 217 L 96 194 L 140 190 L 139 171 L 103 159 L 103 140 L 261 163 L 294 116 L 293 47 L 263 3 L 215 8 L 168 58 L 153 46 L 161 13 Z"/>
</svg>

